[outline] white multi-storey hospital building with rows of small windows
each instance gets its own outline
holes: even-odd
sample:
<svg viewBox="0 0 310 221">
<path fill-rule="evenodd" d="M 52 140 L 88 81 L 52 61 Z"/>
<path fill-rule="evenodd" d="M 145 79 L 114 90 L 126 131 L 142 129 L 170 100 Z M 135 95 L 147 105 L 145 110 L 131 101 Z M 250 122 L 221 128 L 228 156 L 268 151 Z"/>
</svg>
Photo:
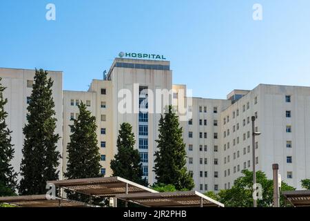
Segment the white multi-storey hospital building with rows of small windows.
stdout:
<svg viewBox="0 0 310 221">
<path fill-rule="evenodd" d="M 185 85 L 172 84 L 169 61 L 116 58 L 105 79 L 92 80 L 88 91 L 63 91 L 61 73 L 49 73 L 54 80 L 57 133 L 63 137 L 59 143 L 63 154 L 61 172 L 66 171 L 70 119 L 79 115 L 78 104 L 84 102 L 96 117 L 101 173 L 112 175 L 110 161 L 117 153 L 118 130 L 121 123 L 128 122 L 136 137 L 143 173 L 150 184 L 156 182 L 152 170 L 161 117 L 156 112 L 156 99 L 165 97 L 158 108 L 163 111 L 167 104 L 176 106 L 183 98 L 181 90 L 187 89 Z M 33 70 L 0 69 L 2 84 L 7 87 L 8 126 L 13 131 L 12 142 L 17 149 L 13 162 L 17 171 L 26 101 L 31 93 L 27 81 L 33 79 L 33 74 Z M 130 95 L 124 95 L 124 89 L 130 91 Z M 173 93 L 167 97 L 167 93 L 157 94 L 156 90 Z M 154 96 L 150 96 L 152 92 Z M 137 102 L 124 105 L 126 96 Z M 153 112 L 143 113 L 139 108 L 146 97 L 149 110 L 150 106 L 154 107 Z M 256 136 L 256 169 L 271 179 L 271 166 L 278 163 L 282 180 L 298 189 L 300 180 L 310 177 L 310 87 L 260 84 L 254 90 L 234 90 L 227 99 L 187 97 L 186 93 L 184 97 L 185 101 L 189 98 L 192 101 L 187 104 L 192 116 L 180 121 L 180 126 L 186 144 L 187 168 L 193 174 L 196 191 L 229 189 L 243 169 L 251 171 L 252 116 L 256 117 L 256 130 L 261 133 Z M 124 107 L 131 111 L 124 113 L 121 111 Z"/>
</svg>

